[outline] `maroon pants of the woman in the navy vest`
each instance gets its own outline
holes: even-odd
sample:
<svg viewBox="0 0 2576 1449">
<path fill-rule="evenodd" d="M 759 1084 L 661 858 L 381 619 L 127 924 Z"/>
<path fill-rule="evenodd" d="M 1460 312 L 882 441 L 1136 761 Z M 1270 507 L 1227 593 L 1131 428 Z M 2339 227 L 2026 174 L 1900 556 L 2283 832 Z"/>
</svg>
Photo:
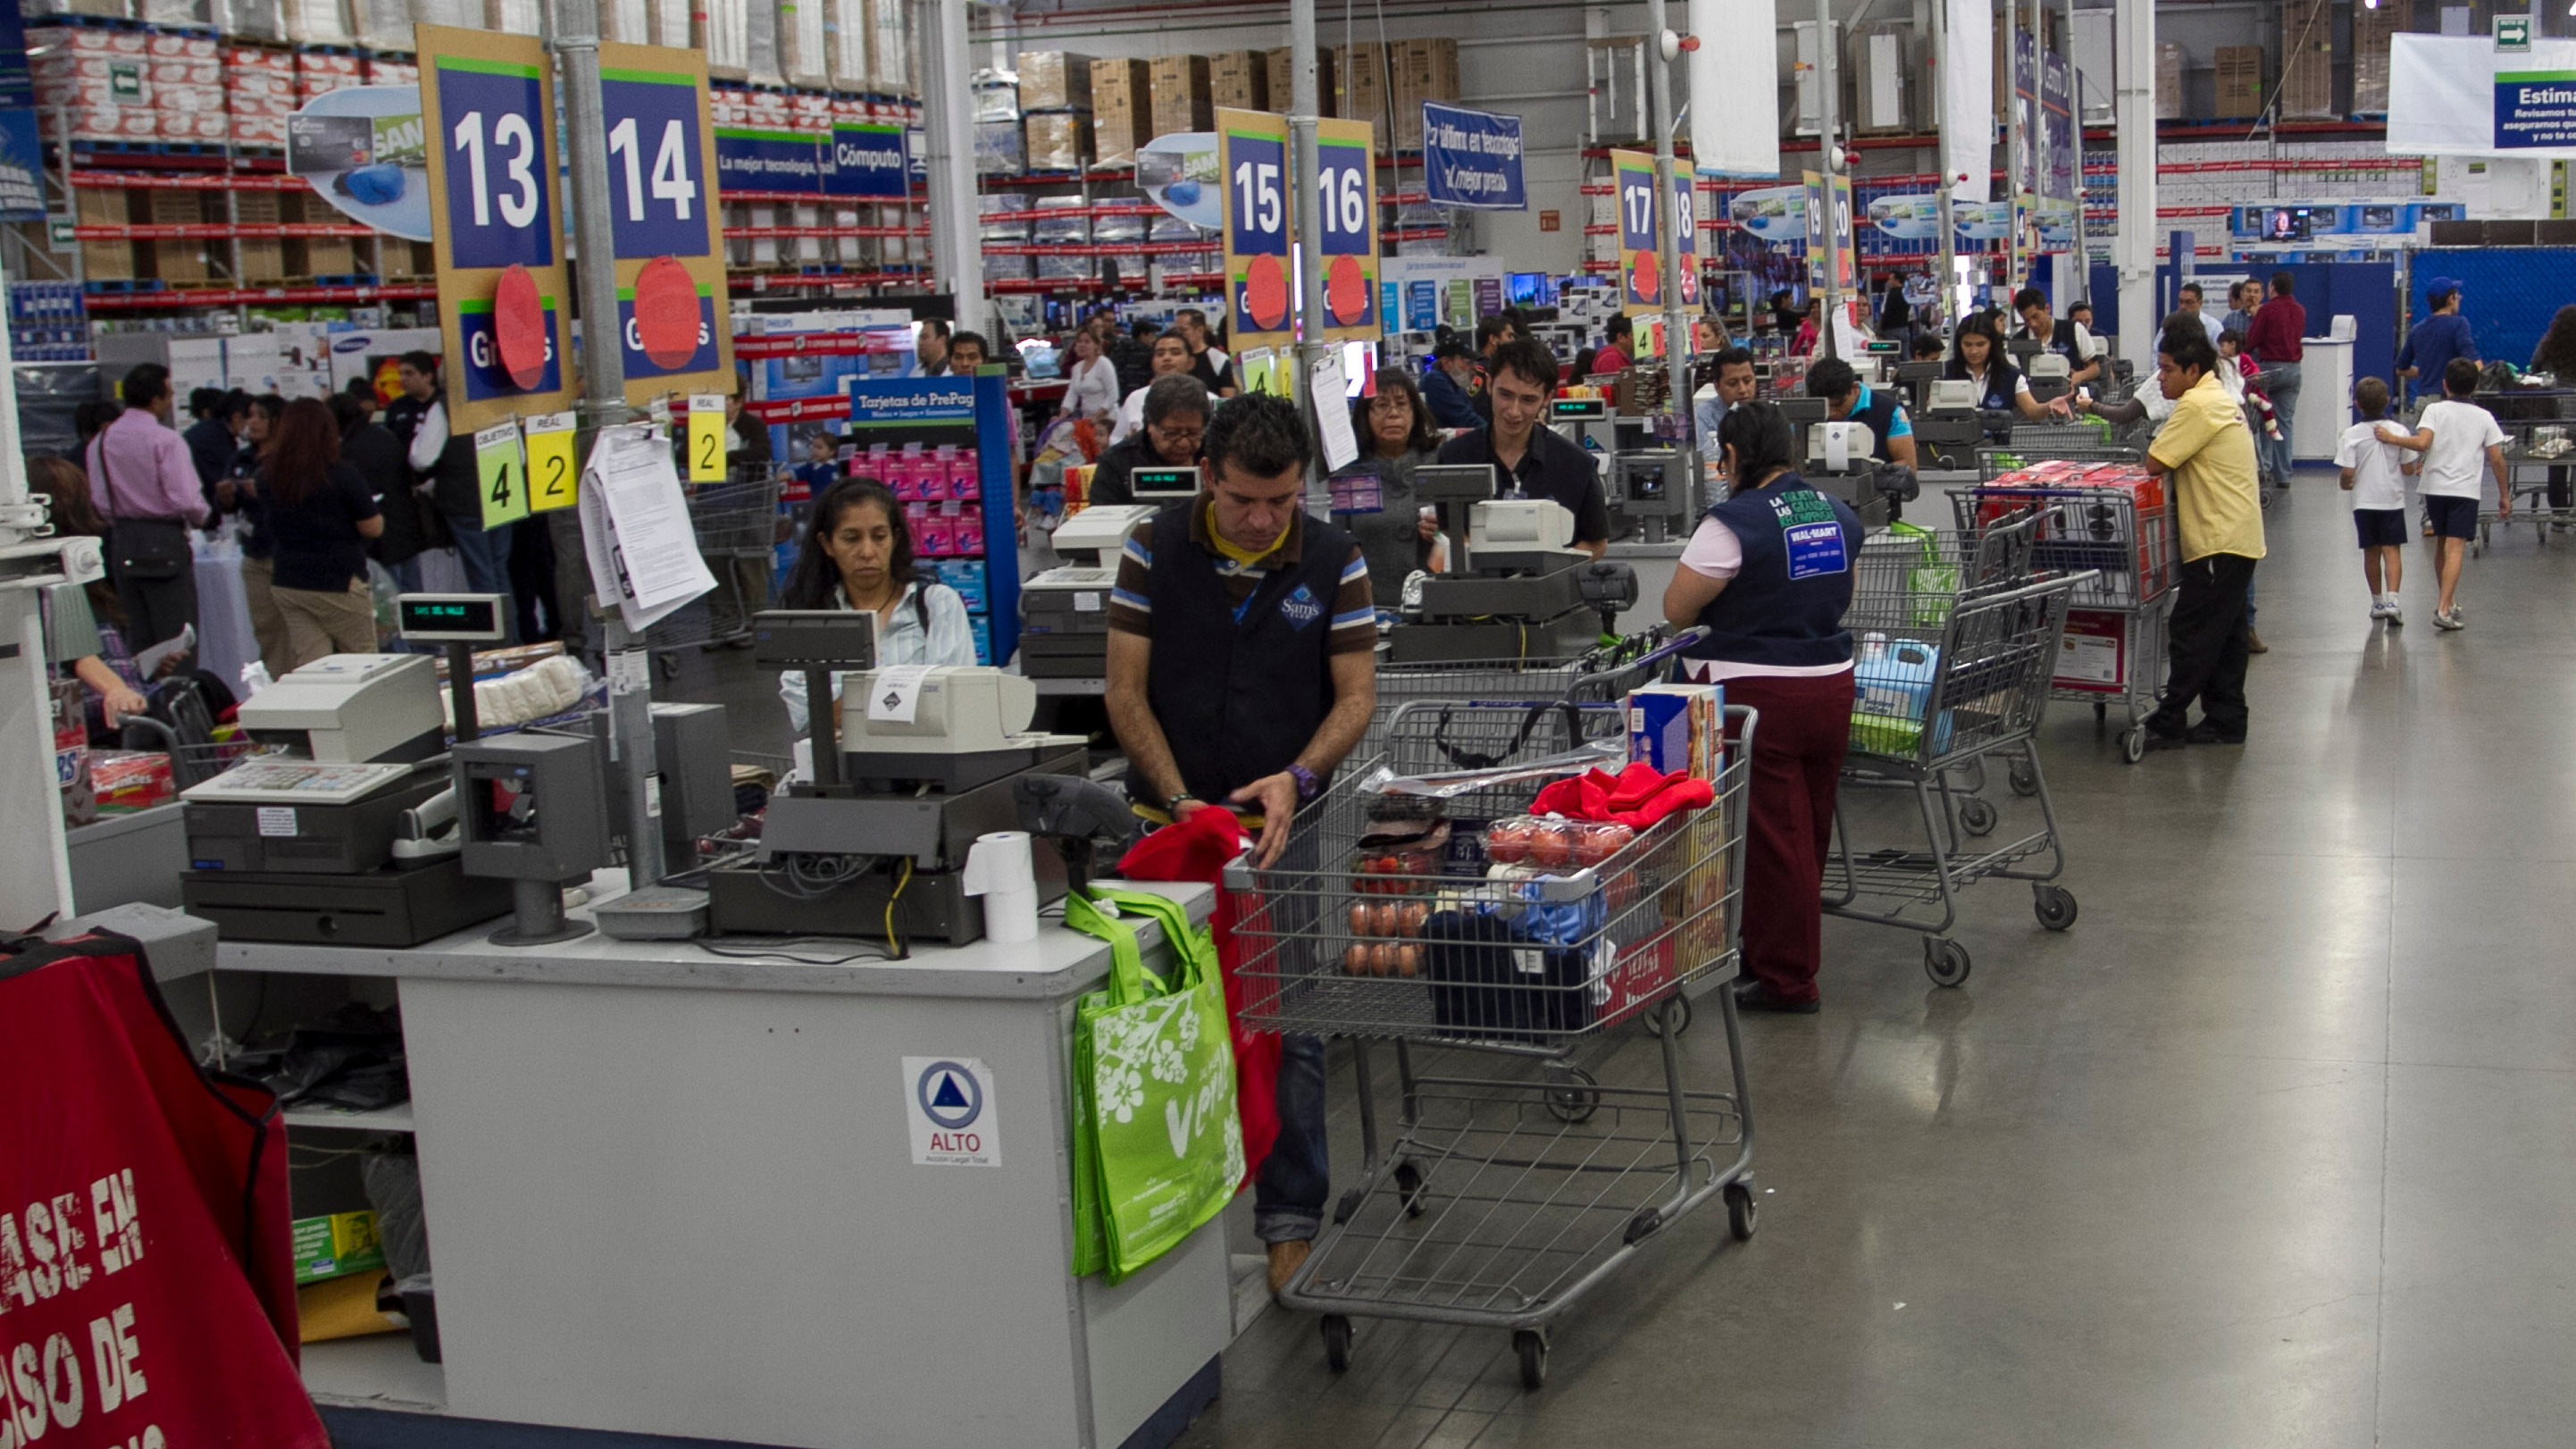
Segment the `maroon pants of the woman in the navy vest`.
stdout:
<svg viewBox="0 0 2576 1449">
<path fill-rule="evenodd" d="M 1744 975 L 1790 1000 L 1814 1000 L 1834 786 L 1852 743 L 1852 670 L 1731 678 L 1726 704 L 1759 712 L 1744 822 Z"/>
</svg>

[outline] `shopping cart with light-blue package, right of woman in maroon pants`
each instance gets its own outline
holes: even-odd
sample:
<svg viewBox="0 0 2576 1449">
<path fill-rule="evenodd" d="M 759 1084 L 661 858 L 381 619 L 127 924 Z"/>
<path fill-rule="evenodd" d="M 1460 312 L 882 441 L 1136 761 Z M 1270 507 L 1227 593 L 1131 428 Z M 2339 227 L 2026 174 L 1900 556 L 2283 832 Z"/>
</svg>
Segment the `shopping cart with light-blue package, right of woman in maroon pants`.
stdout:
<svg viewBox="0 0 2576 1449">
<path fill-rule="evenodd" d="M 2076 897 L 2056 884 L 2066 851 L 2030 740 L 2048 706 L 2069 598 L 2092 580 L 1976 583 L 1978 572 L 1999 578 L 2014 552 L 2032 547 L 2035 523 L 1940 531 L 1929 544 L 1873 536 L 1860 549 L 1844 614 L 1844 627 L 1862 639 L 1852 665 L 1857 706 L 1844 784 L 1906 789 L 1919 820 L 1906 825 L 1901 843 L 1868 846 L 1855 841 L 1847 799 L 1837 797 L 1824 908 L 1919 931 L 1924 975 L 1935 985 L 1968 980 L 1968 949 L 1947 931 L 1958 923 L 1958 892 L 1978 879 L 2030 882 L 2032 913 L 2050 931 L 2076 920 Z M 1971 567 L 1978 559 L 1994 567 Z M 2030 781 L 2038 830 L 1986 841 L 1999 822 L 1994 804 L 1955 781 L 1986 758 L 2004 758 L 2014 779 Z"/>
</svg>

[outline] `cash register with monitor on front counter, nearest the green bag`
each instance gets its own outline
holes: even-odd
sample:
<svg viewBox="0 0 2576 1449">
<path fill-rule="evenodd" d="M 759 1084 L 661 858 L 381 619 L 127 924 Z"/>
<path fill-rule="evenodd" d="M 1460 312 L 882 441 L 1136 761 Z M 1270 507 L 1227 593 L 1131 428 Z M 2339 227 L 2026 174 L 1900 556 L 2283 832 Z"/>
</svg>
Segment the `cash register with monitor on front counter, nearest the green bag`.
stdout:
<svg viewBox="0 0 2576 1449">
<path fill-rule="evenodd" d="M 760 848 L 706 871 L 719 936 L 855 936 L 963 946 L 984 936 L 966 895 L 976 835 L 1020 830 L 1020 784 L 1084 773 L 1079 735 L 1028 724 L 1028 678 L 981 665 L 876 668 L 876 616 L 765 611 L 752 660 L 806 676 L 811 779 L 770 797 Z M 832 704 L 842 673 L 842 704 Z M 1033 841 L 1038 902 L 1064 895 L 1064 856 Z"/>
</svg>

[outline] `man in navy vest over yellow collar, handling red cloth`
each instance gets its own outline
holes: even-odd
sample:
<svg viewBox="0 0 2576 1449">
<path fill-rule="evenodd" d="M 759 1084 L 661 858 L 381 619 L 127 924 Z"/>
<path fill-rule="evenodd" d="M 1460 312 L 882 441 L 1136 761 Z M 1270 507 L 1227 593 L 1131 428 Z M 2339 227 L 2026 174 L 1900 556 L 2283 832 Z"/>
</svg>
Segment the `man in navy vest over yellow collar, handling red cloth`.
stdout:
<svg viewBox="0 0 2576 1449">
<path fill-rule="evenodd" d="M 1293 402 L 1226 400 L 1206 456 L 1208 487 L 1139 523 L 1118 559 L 1110 727 L 1139 815 L 1257 815 L 1267 866 L 1288 848 L 1298 807 L 1368 730 L 1376 608 L 1360 547 L 1301 511 L 1314 443 Z M 1324 1044 L 1314 1036 L 1283 1042 L 1278 1114 L 1252 1196 L 1273 1294 L 1306 1261 L 1329 1191 Z"/>
</svg>

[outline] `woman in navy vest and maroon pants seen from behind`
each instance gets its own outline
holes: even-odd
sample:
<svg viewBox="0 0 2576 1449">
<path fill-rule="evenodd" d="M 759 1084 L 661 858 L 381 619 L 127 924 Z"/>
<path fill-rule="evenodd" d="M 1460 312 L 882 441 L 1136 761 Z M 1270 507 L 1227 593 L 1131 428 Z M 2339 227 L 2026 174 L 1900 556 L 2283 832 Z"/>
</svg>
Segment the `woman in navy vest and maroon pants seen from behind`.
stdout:
<svg viewBox="0 0 2576 1449">
<path fill-rule="evenodd" d="M 1852 565 L 1860 516 L 1790 467 L 1795 428 L 1770 402 L 1718 425 L 1726 503 L 1700 518 L 1664 588 L 1674 629 L 1705 627 L 1687 678 L 1749 704 L 1754 776 L 1744 828 L 1744 1011 L 1816 1011 L 1824 859 L 1852 740 Z"/>
</svg>

